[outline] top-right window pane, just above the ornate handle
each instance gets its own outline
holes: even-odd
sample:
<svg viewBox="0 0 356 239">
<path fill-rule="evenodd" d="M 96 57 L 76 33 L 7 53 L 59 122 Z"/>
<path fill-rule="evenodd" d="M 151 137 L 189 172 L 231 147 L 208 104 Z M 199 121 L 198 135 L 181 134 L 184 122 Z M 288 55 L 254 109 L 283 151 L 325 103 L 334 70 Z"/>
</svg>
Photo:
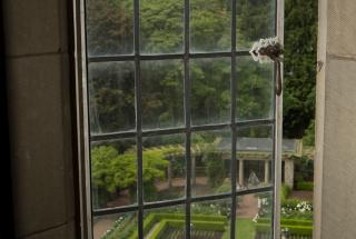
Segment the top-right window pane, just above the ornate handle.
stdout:
<svg viewBox="0 0 356 239">
<path fill-rule="evenodd" d="M 236 44 L 250 49 L 261 38 L 275 37 L 275 0 L 239 0 L 236 4 Z"/>
</svg>

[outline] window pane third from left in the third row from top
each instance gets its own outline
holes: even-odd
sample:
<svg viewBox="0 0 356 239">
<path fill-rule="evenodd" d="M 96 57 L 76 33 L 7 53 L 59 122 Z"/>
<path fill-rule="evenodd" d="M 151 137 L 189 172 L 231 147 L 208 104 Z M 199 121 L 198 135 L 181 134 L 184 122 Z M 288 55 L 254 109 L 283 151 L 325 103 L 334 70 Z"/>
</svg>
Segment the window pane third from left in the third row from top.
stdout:
<svg viewBox="0 0 356 239">
<path fill-rule="evenodd" d="M 231 133 L 204 131 L 191 135 L 191 190 L 194 196 L 231 191 Z"/>
</svg>

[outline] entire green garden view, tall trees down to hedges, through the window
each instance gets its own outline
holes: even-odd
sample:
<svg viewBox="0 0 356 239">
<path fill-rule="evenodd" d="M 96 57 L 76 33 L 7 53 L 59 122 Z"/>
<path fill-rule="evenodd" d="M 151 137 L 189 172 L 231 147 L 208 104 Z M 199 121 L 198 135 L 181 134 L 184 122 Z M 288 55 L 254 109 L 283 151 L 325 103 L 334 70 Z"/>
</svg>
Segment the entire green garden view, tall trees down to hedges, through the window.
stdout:
<svg viewBox="0 0 356 239">
<path fill-rule="evenodd" d="M 274 36 L 274 1 L 238 1 L 237 50 L 249 50 L 260 37 Z M 191 6 L 191 50 L 230 50 L 231 7 L 228 0 L 196 0 Z M 184 4 L 176 0 L 140 0 L 140 52 L 181 53 L 184 47 Z M 131 56 L 134 52 L 134 1 L 88 0 L 89 56 Z M 315 0 L 286 0 L 284 137 L 314 145 Z M 185 126 L 184 62 L 181 59 L 146 60 L 140 64 L 142 130 Z M 273 64 L 254 62 L 238 56 L 236 99 L 230 94 L 229 57 L 191 59 L 189 62 L 190 113 L 192 126 L 273 117 Z M 136 130 L 136 87 L 134 61 L 91 62 L 89 64 L 90 132 L 110 135 Z M 231 100 L 235 100 L 233 103 Z M 123 133 L 125 135 L 125 133 Z M 130 135 L 130 133 L 128 133 Z M 239 137 L 270 139 L 270 126 L 240 129 Z M 132 137 L 132 135 L 130 135 Z M 229 139 L 229 140 L 228 140 Z M 191 195 L 211 196 L 231 190 L 231 143 L 229 129 L 191 133 Z M 238 149 L 237 149 L 238 151 Z M 312 150 L 313 151 L 313 150 Z M 185 133 L 142 137 L 144 202 L 182 199 L 186 196 Z M 239 153 L 239 152 L 237 152 Z M 270 157 L 270 152 L 264 152 Z M 237 159 L 239 157 L 237 156 Z M 312 238 L 313 157 L 296 156 L 294 188 L 283 187 L 281 229 L 295 238 Z M 257 161 L 245 165 L 244 183 L 237 190 L 268 186 Z M 238 170 L 238 169 L 237 169 Z M 96 141 L 91 145 L 92 208 L 137 205 L 136 138 Z M 265 171 L 266 173 L 266 171 Z M 237 176 L 238 177 L 238 176 Z M 269 177 L 271 178 L 271 177 Z M 191 205 L 191 238 L 227 239 L 230 231 L 231 201 Z M 238 197 L 236 233 L 241 239 L 270 238 L 270 193 Z M 185 208 L 145 210 L 145 238 L 184 238 Z M 93 218 L 95 239 L 138 238 L 136 212 Z"/>
</svg>

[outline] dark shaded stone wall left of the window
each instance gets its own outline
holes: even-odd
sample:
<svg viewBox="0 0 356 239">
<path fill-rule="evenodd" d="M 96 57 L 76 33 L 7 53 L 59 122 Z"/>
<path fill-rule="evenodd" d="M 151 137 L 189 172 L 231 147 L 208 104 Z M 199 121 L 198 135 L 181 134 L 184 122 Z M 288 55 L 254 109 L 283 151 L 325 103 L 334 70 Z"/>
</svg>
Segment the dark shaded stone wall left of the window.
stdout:
<svg viewBox="0 0 356 239">
<path fill-rule="evenodd" d="M 18 238 L 75 238 L 66 2 L 2 1 Z"/>
</svg>

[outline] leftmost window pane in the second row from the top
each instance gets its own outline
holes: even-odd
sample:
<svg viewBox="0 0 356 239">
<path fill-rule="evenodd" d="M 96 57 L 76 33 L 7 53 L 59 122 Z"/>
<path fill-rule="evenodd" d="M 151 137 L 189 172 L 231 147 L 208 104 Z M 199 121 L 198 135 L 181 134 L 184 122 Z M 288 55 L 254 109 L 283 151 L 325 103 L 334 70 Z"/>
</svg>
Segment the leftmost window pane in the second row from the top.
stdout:
<svg viewBox="0 0 356 239">
<path fill-rule="evenodd" d="M 132 62 L 89 64 L 90 132 L 135 128 L 135 79 Z"/>
</svg>

